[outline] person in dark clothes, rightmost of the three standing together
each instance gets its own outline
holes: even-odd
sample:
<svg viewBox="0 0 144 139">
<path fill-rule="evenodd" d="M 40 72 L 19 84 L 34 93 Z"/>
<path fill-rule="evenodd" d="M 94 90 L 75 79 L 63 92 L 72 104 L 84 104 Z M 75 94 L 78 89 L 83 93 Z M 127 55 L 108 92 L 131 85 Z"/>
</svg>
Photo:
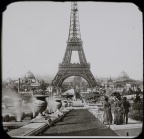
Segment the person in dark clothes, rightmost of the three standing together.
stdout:
<svg viewBox="0 0 144 139">
<path fill-rule="evenodd" d="M 130 103 L 126 97 L 123 98 L 123 120 L 125 124 L 128 123 L 128 112 L 129 112 Z"/>
</svg>

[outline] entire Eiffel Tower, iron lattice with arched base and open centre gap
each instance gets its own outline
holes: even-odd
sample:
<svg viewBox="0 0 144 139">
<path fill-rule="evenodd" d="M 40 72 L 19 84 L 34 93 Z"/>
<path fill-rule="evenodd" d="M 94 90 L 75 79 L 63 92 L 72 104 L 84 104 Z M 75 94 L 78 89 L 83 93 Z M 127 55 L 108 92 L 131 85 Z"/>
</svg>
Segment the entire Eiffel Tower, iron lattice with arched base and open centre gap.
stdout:
<svg viewBox="0 0 144 139">
<path fill-rule="evenodd" d="M 95 87 L 97 85 L 96 80 L 90 71 L 90 64 L 87 63 L 82 45 L 83 42 L 80 33 L 78 5 L 77 2 L 71 2 L 67 48 L 63 61 L 59 64 L 59 70 L 52 81 L 53 86 L 60 87 L 63 81 L 70 76 L 83 77 L 88 82 L 89 87 Z M 71 63 L 72 51 L 78 52 L 80 63 Z"/>
</svg>

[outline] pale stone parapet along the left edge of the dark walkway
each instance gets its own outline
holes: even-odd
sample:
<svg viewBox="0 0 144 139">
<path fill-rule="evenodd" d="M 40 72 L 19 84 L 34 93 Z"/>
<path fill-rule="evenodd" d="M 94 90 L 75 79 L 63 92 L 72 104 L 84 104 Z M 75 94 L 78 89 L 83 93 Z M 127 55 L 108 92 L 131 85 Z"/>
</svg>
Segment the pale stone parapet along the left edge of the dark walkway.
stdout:
<svg viewBox="0 0 144 139">
<path fill-rule="evenodd" d="M 70 112 L 72 108 L 62 108 L 61 110 L 57 110 L 52 114 L 47 114 L 48 115 L 48 121 L 46 122 L 45 120 L 38 121 L 38 123 L 35 121 L 34 123 L 32 121 L 25 123 L 24 122 L 19 122 L 19 127 L 21 124 L 21 127 L 18 129 L 11 130 L 7 132 L 7 134 L 11 137 L 22 137 L 22 136 L 35 136 L 35 135 L 40 135 L 43 130 L 46 128 L 49 128 L 52 126 L 54 123 L 60 121 L 68 112 Z M 7 122 L 7 126 L 12 124 L 11 122 Z M 17 122 L 14 122 L 13 125 L 18 125 L 16 124 Z M 22 125 L 23 123 L 23 125 Z M 3 125 L 6 127 L 6 123 L 3 122 Z"/>
</svg>

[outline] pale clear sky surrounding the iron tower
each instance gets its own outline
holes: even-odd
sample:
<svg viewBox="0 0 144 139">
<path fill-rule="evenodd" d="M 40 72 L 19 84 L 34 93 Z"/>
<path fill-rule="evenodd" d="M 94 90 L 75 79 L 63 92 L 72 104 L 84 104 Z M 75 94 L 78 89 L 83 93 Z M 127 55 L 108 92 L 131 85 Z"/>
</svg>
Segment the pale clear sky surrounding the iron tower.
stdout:
<svg viewBox="0 0 144 139">
<path fill-rule="evenodd" d="M 142 12 L 133 3 L 78 2 L 83 49 L 96 77 L 143 78 Z M 62 62 L 71 2 L 15 2 L 2 23 L 2 78 L 52 75 Z M 78 55 L 73 53 L 72 62 Z"/>
</svg>

